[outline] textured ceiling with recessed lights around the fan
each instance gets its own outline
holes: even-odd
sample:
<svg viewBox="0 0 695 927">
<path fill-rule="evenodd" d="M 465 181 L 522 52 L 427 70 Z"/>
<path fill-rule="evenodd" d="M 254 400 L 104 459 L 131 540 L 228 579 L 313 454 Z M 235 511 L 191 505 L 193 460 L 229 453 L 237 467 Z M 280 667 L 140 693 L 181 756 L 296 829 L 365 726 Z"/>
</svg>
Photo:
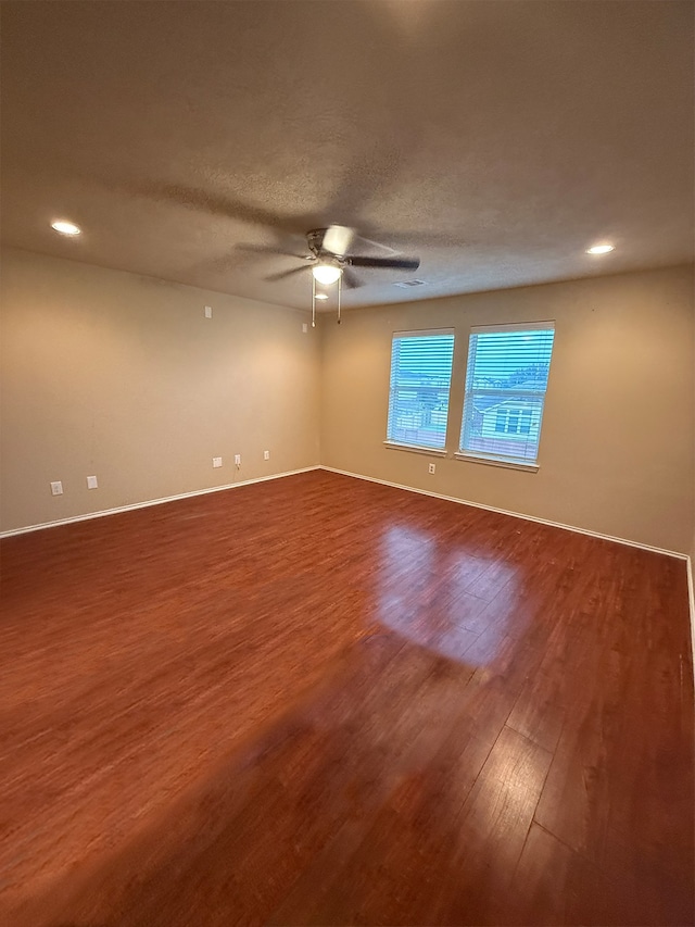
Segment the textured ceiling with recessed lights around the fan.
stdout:
<svg viewBox="0 0 695 927">
<path fill-rule="evenodd" d="M 330 223 L 421 259 L 359 272 L 345 305 L 690 261 L 693 12 L 4 2 L 3 240 L 303 308 L 307 268 L 264 279 L 301 256 L 261 249 Z"/>
</svg>

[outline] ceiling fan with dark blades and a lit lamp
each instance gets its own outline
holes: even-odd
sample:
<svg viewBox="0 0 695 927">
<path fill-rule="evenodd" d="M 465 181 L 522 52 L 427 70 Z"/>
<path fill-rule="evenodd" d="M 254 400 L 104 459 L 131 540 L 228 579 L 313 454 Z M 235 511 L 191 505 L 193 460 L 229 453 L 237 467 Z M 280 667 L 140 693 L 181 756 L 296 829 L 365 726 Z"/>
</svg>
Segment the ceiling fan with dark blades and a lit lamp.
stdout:
<svg viewBox="0 0 695 927">
<path fill-rule="evenodd" d="M 281 280 L 311 268 L 314 279 L 319 284 L 330 286 L 340 281 L 352 289 L 361 286 L 358 277 L 352 272 L 353 267 L 417 271 L 420 266 L 419 258 L 371 258 L 351 254 L 350 249 L 354 238 L 355 230 L 344 225 L 314 228 L 306 233 L 306 245 L 309 253 L 304 255 L 304 263 L 299 267 L 271 274 L 266 277 L 266 280 Z M 367 241 L 368 239 L 364 240 Z M 383 246 L 378 247 L 383 248 Z"/>
</svg>

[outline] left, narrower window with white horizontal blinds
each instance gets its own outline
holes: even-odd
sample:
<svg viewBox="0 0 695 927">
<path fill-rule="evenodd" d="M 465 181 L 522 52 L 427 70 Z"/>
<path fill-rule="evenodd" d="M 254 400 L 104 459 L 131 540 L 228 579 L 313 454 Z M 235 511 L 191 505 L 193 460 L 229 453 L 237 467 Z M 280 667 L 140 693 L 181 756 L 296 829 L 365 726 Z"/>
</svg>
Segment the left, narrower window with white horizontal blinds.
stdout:
<svg viewBox="0 0 695 927">
<path fill-rule="evenodd" d="M 395 333 L 388 441 L 410 448 L 444 448 L 453 358 L 451 330 Z"/>
</svg>

